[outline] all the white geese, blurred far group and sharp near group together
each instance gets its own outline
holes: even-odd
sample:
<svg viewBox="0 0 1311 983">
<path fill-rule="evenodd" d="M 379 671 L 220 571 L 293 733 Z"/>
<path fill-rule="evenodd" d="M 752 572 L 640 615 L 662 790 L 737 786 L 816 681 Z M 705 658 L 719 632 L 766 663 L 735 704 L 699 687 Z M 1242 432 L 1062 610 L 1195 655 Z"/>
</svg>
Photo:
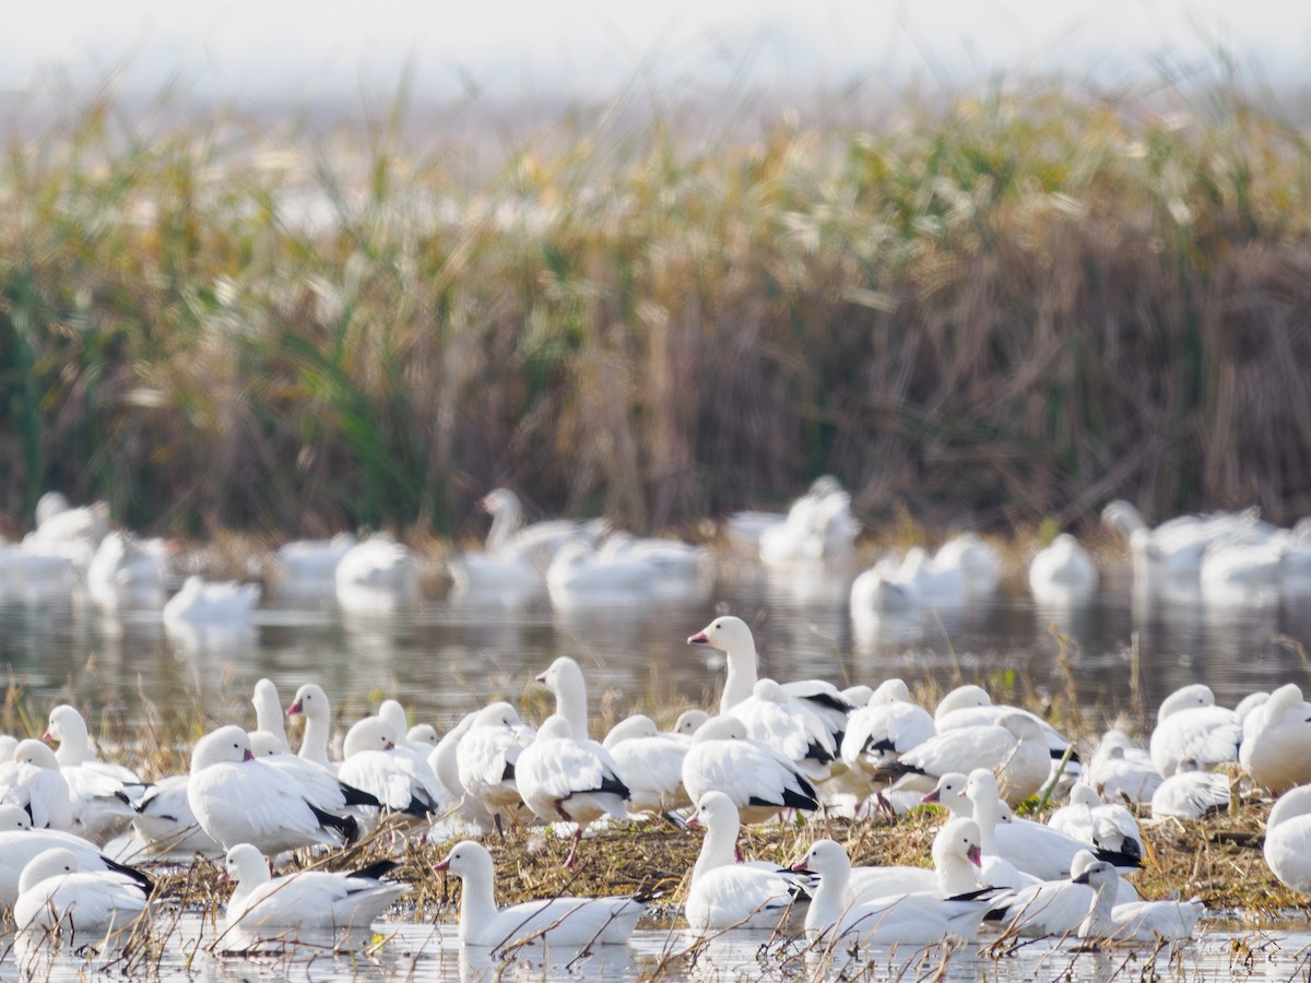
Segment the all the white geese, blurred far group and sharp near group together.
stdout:
<svg viewBox="0 0 1311 983">
<path fill-rule="evenodd" d="M 168 544 L 110 531 L 94 506 L 43 505 L 37 530 L 0 548 L 0 581 L 80 577 L 105 607 L 157 600 L 166 624 L 236 620 L 258 602 L 253 590 L 199 578 L 165 602 Z M 544 595 L 569 606 L 625 591 L 703 590 L 700 548 L 616 535 L 603 523 L 524 526 L 518 499 L 503 490 L 482 506 L 492 532 L 486 549 L 455 561 L 458 596 L 520 603 Z M 1303 530 L 1274 530 L 1251 514 L 1150 530 L 1117 502 L 1105 519 L 1125 533 L 1145 588 L 1186 588 L 1207 600 L 1240 590 L 1261 596 L 1302 590 L 1311 568 Z M 788 569 L 850 561 L 859 524 L 840 486 L 821 480 L 789 512 L 741 512 L 724 530 L 767 566 Z M 413 557 L 384 537 L 291 544 L 278 564 L 284 591 L 334 591 L 346 609 L 391 609 L 413 603 L 418 590 Z M 933 556 L 880 560 L 853 577 L 852 606 L 975 598 L 995 590 L 998 571 L 987 544 L 962 536 Z M 1076 596 L 1095 590 L 1096 577 L 1068 536 L 1029 568 L 1036 595 Z M 189 773 L 149 782 L 98 760 L 81 714 L 56 706 L 42 739 L 0 738 L 0 904 L 24 933 L 105 936 L 168 903 L 134 864 L 199 855 L 222 861 L 235 882 L 223 927 L 235 940 L 362 927 L 409 890 L 388 879 L 393 862 L 283 876 L 270 865 L 283 865 L 290 851 L 330 853 L 389 817 L 405 836 L 455 840 L 434 866 L 464 882 L 461 942 L 623 942 L 649 898 L 551 898 L 498 910 L 492 855 L 480 840 L 547 824 L 572 838 L 572 865 L 586 855 L 589 831 L 671 817 L 705 830 L 678 899 L 701 935 L 797 925 L 825 942 L 928 944 L 1000 925 L 1099 941 L 1185 940 L 1202 904 L 1143 900 L 1133 886 L 1145 858 L 1135 814 L 1198 819 L 1224 810 L 1234 773 L 1274 797 L 1264 847 L 1272 872 L 1311 893 L 1311 706 L 1293 683 L 1234 709 L 1215 705 L 1205 685 L 1184 687 L 1160 705 L 1146 746 L 1109 731 L 1080 754 L 1042 718 L 996 705 L 977 685 L 952 691 L 929 712 L 898 679 L 839 691 L 821 680 L 758 678 L 750 626 L 733 616 L 687 641 L 726 657 L 717 712 L 691 709 L 669 731 L 635 716 L 600 741 L 591 735 L 585 674 L 568 657 L 538 676 L 556 712 L 536 727 L 511 704 L 494 703 L 439 735 L 409 726 L 405 709 L 387 701 L 345 731 L 341 760 L 330 754 L 332 708 L 317 684 L 307 682 L 283 708 L 273 684 L 260 680 L 254 727 L 233 722 L 206 734 Z M 295 751 L 288 717 L 304 722 Z M 1037 794 L 1068 802 L 1046 823 L 1012 814 Z M 789 866 L 739 856 L 743 823 L 882 822 L 924 803 L 948 817 L 926 858 L 931 866 L 853 866 L 831 839 L 817 839 Z"/>
</svg>

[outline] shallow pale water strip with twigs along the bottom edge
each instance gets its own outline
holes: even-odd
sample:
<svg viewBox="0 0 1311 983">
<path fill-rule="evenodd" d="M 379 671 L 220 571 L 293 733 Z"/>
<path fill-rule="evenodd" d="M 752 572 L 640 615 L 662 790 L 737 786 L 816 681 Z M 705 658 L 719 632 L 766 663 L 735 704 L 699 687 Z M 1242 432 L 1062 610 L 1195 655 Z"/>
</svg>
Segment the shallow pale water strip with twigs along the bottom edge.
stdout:
<svg viewBox="0 0 1311 983">
<path fill-rule="evenodd" d="M 161 924 L 170 924 L 160 919 Z M 164 932 L 168 932 L 165 936 Z M 1033 940 L 994 950 L 988 940 L 945 946 L 806 948 L 768 932 L 729 932 L 697 942 L 686 931 L 638 929 L 627 946 L 598 945 L 589 953 L 560 949 L 497 950 L 460 946 L 452 925 L 383 920 L 374 932 L 333 936 L 302 932 L 256 949 L 224 953 L 212 946 L 215 931 L 185 914 L 160 929 L 149 954 L 123 957 L 67 952 L 49 944 L 18 942 L 0 961 L 0 979 L 85 979 L 88 973 L 118 976 L 186 975 L 194 980 L 250 979 L 409 979 L 469 983 L 496 979 L 572 980 L 794 980 L 920 979 L 1096 980 L 1176 978 L 1189 980 L 1306 978 L 1311 935 L 1306 929 L 1255 932 L 1206 921 L 1198 938 L 1171 950 L 1152 946 L 1084 949 L 1075 942 Z M 8 941 L 8 940 L 5 940 Z M 1159 974 L 1159 975 L 1154 975 Z"/>
</svg>

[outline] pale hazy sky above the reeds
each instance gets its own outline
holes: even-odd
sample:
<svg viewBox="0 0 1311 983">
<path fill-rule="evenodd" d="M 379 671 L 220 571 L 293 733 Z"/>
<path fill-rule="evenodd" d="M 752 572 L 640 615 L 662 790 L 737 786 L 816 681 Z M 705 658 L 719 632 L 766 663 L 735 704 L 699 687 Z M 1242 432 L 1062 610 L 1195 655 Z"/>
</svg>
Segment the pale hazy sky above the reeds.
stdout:
<svg viewBox="0 0 1311 983">
<path fill-rule="evenodd" d="M 349 9 L 342 9 L 349 8 Z M 1304 84 L 1311 0 L 50 0 L 7 4 L 0 92 L 127 66 L 121 85 L 181 79 L 222 98 L 338 96 L 393 85 L 429 97 L 472 83 L 501 97 L 570 94 L 633 77 L 788 88 L 915 75 L 966 84 L 998 69 L 1122 80 L 1163 63 Z"/>
</svg>

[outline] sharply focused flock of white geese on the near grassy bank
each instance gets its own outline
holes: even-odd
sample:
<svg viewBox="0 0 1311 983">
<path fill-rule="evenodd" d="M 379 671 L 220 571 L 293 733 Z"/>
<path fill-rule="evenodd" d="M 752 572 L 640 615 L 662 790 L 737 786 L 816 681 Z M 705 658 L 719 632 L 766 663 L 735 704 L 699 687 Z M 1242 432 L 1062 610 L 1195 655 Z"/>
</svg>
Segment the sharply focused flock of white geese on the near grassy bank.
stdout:
<svg viewBox="0 0 1311 983">
<path fill-rule="evenodd" d="M 733 616 L 688 644 L 726 655 L 717 712 L 688 710 L 670 731 L 635 716 L 602 741 L 590 735 L 585 674 L 569 657 L 536 678 L 556 700 L 538 727 L 494 703 L 439 737 L 408 726 L 388 701 L 346 730 L 342 760 L 329 754 L 332 708 L 319 685 L 305 683 L 283 708 L 260 680 L 254 727 L 206 734 L 189 773 L 153 782 L 98 760 L 81 714 L 56 706 L 43 739 L 3 738 L 0 904 L 22 933 L 101 938 L 168 904 L 134 862 L 201 855 L 235 882 L 222 931 L 236 948 L 295 928 L 366 927 L 409 890 L 388 879 L 395 862 L 282 876 L 270 865 L 288 851 L 330 853 L 389 817 L 396 853 L 404 838 L 454 840 L 433 857 L 464 882 L 463 944 L 624 942 L 650 899 L 557 896 L 498 910 L 480 840 L 547 824 L 572 836 L 572 865 L 593 827 L 603 835 L 676 817 L 705 830 L 680 898 L 703 936 L 796 927 L 823 942 L 920 945 L 996 925 L 1177 941 L 1193 936 L 1203 907 L 1138 896 L 1130 878 L 1147 851 L 1135 811 L 1196 819 L 1223 810 L 1231 782 L 1215 769 L 1226 767 L 1276 797 L 1266 860 L 1286 885 L 1311 891 L 1311 709 L 1295 684 L 1235 709 L 1217 706 L 1203 685 L 1185 687 L 1162 704 L 1146 747 L 1112 731 L 1080 764 L 1049 723 L 995 705 L 979 687 L 952 691 L 929 713 L 898 679 L 846 691 L 760 679 L 751 630 Z M 295 752 L 287 718 L 304 721 Z M 1012 814 L 1045 789 L 1068 798 L 1046 823 Z M 884 822 L 922 803 L 947 811 L 932 866 L 853 866 L 832 839 L 815 839 L 788 866 L 739 856 L 742 823 Z"/>
</svg>

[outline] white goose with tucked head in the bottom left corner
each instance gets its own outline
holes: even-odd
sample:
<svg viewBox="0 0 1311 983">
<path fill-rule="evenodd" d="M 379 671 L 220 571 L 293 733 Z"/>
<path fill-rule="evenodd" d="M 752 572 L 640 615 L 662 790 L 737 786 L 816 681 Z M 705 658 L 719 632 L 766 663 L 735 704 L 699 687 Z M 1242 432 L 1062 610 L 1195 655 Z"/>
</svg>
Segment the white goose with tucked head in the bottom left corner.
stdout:
<svg viewBox="0 0 1311 983">
<path fill-rule="evenodd" d="M 20 932 L 67 928 L 73 935 L 105 937 L 135 921 L 149 902 L 151 887 L 118 870 L 84 870 L 63 847 L 45 849 L 28 861 L 18 878 L 13 920 Z"/>
</svg>

